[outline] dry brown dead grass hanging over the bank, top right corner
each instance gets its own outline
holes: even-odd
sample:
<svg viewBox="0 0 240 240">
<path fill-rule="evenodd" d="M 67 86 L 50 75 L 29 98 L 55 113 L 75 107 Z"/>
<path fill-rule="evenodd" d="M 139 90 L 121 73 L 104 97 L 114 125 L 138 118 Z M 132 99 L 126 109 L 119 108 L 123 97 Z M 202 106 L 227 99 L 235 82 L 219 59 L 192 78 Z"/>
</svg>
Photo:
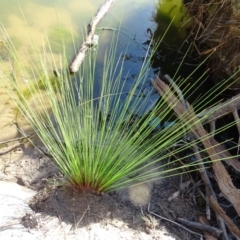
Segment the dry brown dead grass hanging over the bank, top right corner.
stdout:
<svg viewBox="0 0 240 240">
<path fill-rule="evenodd" d="M 185 0 L 192 17 L 190 37 L 200 57 L 213 53 L 215 82 L 232 76 L 240 66 L 240 11 L 233 0 Z M 237 73 L 233 82 L 240 77 Z M 233 85 L 240 88 L 240 81 Z"/>
</svg>

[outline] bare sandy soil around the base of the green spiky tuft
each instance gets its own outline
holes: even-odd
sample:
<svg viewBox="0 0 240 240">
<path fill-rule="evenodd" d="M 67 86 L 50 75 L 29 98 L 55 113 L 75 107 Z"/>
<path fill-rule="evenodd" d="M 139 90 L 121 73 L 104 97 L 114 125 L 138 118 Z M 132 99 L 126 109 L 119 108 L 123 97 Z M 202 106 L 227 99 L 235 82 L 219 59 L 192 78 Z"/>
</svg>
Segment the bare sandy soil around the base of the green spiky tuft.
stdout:
<svg viewBox="0 0 240 240">
<path fill-rule="evenodd" d="M 199 239 L 160 218 L 196 220 L 194 202 L 185 195 L 186 188 L 180 191 L 184 178 L 156 182 L 149 204 L 138 206 L 130 200 L 129 189 L 101 195 L 72 189 L 51 161 L 32 147 L 5 150 L 1 149 L 0 180 L 38 191 L 30 203 L 34 214 L 19 219 L 28 231 L 41 232 L 35 239 Z M 144 191 L 135 197 L 148 194 Z"/>
</svg>

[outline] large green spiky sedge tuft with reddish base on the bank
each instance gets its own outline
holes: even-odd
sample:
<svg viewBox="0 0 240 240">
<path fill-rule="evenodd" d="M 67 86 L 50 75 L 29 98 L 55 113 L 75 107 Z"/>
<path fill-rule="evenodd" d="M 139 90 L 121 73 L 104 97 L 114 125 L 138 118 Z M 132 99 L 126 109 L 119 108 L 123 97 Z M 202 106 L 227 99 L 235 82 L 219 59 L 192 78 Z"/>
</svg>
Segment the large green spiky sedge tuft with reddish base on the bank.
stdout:
<svg viewBox="0 0 240 240">
<path fill-rule="evenodd" d="M 14 46 L 9 42 L 7 47 L 21 72 L 27 72 Z M 166 159 L 201 141 L 186 140 L 200 120 L 188 124 L 176 118 L 169 123 L 171 109 L 161 97 L 152 99 L 154 88 L 139 91 L 139 86 L 150 82 L 153 51 L 146 53 L 129 88 L 124 54 L 117 56 L 116 49 L 114 39 L 102 56 L 100 70 L 97 53 L 89 52 L 79 72 L 71 76 L 64 51 L 57 64 L 47 43 L 44 54 L 34 49 L 38 64 L 32 65 L 32 79 L 24 88 L 19 77 L 12 77 L 12 70 L 6 68 L 1 83 L 51 154 L 50 160 L 79 190 L 109 192 L 179 174 L 181 169 L 199 169 L 196 159 L 187 161 L 193 153 L 174 158 L 185 165 L 167 168 Z M 169 124 L 164 126 L 163 121 Z M 210 160 L 206 157 L 203 161 Z"/>
</svg>

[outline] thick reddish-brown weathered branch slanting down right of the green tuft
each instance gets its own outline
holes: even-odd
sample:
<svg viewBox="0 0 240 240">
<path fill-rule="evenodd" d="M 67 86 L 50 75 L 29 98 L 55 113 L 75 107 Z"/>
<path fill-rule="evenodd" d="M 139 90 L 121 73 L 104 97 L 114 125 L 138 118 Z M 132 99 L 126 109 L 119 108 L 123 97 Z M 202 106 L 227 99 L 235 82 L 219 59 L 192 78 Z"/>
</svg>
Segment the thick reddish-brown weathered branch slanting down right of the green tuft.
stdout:
<svg viewBox="0 0 240 240">
<path fill-rule="evenodd" d="M 222 146 L 220 147 L 220 144 L 207 133 L 190 105 L 188 105 L 188 108 L 186 110 L 181 101 L 171 92 L 170 88 L 158 77 L 156 81 L 152 81 L 152 83 L 160 95 L 163 97 L 165 102 L 169 105 L 169 107 L 174 110 L 178 118 L 182 122 L 188 124 L 190 126 L 190 131 L 203 143 L 209 157 L 212 160 L 213 170 L 220 190 L 222 191 L 225 198 L 227 198 L 229 202 L 232 203 L 236 212 L 240 216 L 240 191 L 233 185 L 228 172 L 221 163 L 223 154 L 224 156 L 231 155 L 229 153 L 227 154 L 227 150 L 225 150 Z M 213 197 L 211 197 L 211 199 L 213 199 L 214 202 L 218 205 Z"/>
</svg>

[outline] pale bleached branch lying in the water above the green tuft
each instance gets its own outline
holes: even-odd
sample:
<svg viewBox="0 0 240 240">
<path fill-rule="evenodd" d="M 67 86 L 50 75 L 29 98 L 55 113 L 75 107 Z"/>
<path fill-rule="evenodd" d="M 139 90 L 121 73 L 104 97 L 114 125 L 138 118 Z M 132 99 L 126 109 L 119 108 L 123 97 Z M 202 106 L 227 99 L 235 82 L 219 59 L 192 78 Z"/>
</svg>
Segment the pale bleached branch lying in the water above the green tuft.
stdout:
<svg viewBox="0 0 240 240">
<path fill-rule="evenodd" d="M 108 12 L 108 9 L 110 8 L 111 4 L 114 2 L 114 0 L 106 0 L 104 4 L 100 6 L 98 9 L 95 17 L 93 18 L 92 22 L 88 24 L 88 35 L 83 42 L 82 46 L 80 47 L 77 55 L 73 59 L 71 65 L 69 66 L 69 70 L 71 73 L 75 73 L 78 71 L 81 63 L 83 62 L 86 52 L 91 47 L 93 37 L 94 37 L 94 32 L 96 29 L 97 24 L 101 21 L 101 19 L 104 17 L 104 15 Z"/>
</svg>

